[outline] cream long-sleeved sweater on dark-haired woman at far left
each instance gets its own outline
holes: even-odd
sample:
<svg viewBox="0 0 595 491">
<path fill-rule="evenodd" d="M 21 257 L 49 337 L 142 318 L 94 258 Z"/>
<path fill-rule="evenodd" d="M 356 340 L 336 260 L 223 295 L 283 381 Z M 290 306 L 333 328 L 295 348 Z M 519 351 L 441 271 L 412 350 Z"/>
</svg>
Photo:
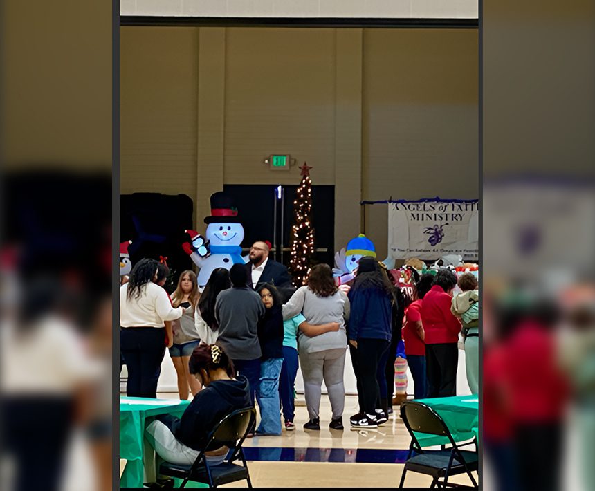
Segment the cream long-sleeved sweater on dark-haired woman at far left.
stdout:
<svg viewBox="0 0 595 491">
<path fill-rule="evenodd" d="M 183 308 L 174 308 L 161 286 L 149 282 L 140 287 L 140 298 L 127 299 L 128 285 L 120 286 L 120 326 L 163 327 L 163 321 L 182 317 Z"/>
</svg>

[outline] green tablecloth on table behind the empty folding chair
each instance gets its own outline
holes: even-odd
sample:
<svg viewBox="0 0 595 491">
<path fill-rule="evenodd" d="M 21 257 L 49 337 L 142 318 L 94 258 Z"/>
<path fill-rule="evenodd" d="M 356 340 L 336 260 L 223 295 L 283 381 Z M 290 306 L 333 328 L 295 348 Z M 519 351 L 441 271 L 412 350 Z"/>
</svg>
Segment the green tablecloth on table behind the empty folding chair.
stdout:
<svg viewBox="0 0 595 491">
<path fill-rule="evenodd" d="M 479 428 L 479 397 L 478 396 L 454 396 L 437 397 L 430 399 L 417 399 L 416 402 L 423 402 L 436 411 L 446 423 L 452 438 L 455 441 L 466 441 L 473 439 L 478 434 Z M 416 438 L 422 446 L 443 445 L 448 443 L 448 438 L 415 433 Z"/>
</svg>

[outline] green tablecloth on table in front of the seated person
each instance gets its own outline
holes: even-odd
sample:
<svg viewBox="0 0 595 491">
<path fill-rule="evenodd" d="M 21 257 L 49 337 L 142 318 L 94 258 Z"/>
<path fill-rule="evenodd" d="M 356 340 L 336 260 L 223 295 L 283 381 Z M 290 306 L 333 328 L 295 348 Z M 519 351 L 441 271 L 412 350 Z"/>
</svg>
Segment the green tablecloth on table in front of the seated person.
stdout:
<svg viewBox="0 0 595 491">
<path fill-rule="evenodd" d="M 182 416 L 187 400 L 120 398 L 120 458 L 127 460 L 120 488 L 142 488 L 145 471 L 145 428 L 159 414 Z M 188 483 L 190 485 L 191 483 Z"/>
</svg>

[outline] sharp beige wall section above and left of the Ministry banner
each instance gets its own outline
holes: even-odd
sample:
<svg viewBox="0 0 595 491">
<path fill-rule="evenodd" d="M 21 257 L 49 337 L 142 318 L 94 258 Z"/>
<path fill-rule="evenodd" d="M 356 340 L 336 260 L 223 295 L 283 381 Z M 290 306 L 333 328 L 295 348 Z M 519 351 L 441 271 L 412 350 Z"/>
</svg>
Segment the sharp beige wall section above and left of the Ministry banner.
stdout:
<svg viewBox="0 0 595 491">
<path fill-rule="evenodd" d="M 477 30 L 364 31 L 363 199 L 479 196 Z M 366 207 L 381 259 L 387 207 Z"/>
</svg>

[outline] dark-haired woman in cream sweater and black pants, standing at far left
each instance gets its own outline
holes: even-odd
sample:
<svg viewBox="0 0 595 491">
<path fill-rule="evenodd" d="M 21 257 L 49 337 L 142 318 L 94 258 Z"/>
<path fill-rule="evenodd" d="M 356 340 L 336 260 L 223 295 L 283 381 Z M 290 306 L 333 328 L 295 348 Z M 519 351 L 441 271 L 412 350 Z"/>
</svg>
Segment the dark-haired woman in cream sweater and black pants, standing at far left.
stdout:
<svg viewBox="0 0 595 491">
<path fill-rule="evenodd" d="M 128 369 L 126 395 L 157 397 L 157 381 L 165 347 L 174 342 L 171 324 L 182 317 L 183 307 L 174 308 L 163 284 L 169 270 L 154 259 L 141 259 L 120 286 L 120 351 Z M 166 342 L 167 331 L 167 342 Z"/>
</svg>

